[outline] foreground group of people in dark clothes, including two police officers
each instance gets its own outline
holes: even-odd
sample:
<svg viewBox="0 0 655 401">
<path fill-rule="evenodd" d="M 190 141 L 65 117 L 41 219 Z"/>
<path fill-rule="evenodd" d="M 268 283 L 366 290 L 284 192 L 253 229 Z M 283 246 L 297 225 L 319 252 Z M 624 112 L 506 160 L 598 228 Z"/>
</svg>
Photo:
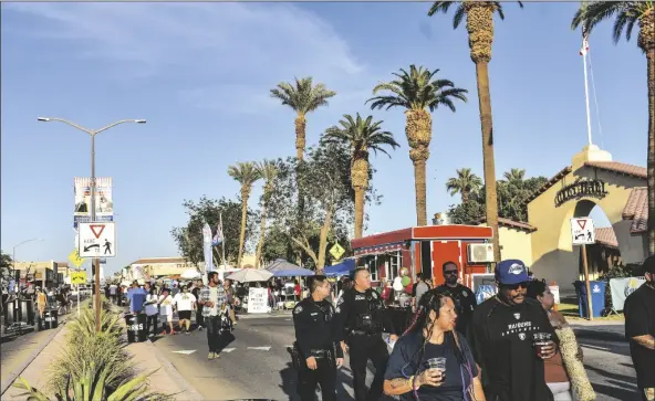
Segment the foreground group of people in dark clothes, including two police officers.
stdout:
<svg viewBox="0 0 655 401">
<path fill-rule="evenodd" d="M 497 264 L 498 293 L 477 304 L 458 284 L 457 264 L 443 265 L 445 283 L 413 288 L 408 327 L 394 327 L 385 304 L 392 293 L 375 292 L 365 268 L 344 281 L 333 306 L 324 276 L 310 279 L 311 294 L 293 310 L 292 351 L 299 370 L 298 393 L 336 400 L 336 370 L 350 353 L 356 401 L 380 400 L 383 392 L 403 401 L 571 401 L 594 400 L 582 365 L 583 352 L 566 319 L 554 309 L 543 279 L 529 275 L 518 260 Z M 644 263 L 646 283 L 628 296 L 626 337 L 644 401 L 655 388 L 655 256 Z M 388 346 L 384 327 L 391 325 Z M 396 325 L 397 326 L 397 325 Z M 375 367 L 367 388 L 366 366 Z"/>
</svg>

